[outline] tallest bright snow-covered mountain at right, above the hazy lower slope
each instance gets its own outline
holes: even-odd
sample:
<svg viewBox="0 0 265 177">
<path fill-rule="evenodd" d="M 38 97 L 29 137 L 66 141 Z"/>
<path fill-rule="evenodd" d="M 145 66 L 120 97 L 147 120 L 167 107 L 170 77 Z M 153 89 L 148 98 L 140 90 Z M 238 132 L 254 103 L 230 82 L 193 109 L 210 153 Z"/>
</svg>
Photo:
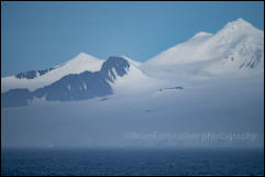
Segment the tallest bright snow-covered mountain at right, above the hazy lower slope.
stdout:
<svg viewBox="0 0 265 177">
<path fill-rule="evenodd" d="M 263 73 L 263 65 L 264 32 L 238 19 L 216 34 L 197 33 L 187 42 L 151 58 L 141 68 L 154 76 L 164 74 L 183 78 Z"/>
</svg>

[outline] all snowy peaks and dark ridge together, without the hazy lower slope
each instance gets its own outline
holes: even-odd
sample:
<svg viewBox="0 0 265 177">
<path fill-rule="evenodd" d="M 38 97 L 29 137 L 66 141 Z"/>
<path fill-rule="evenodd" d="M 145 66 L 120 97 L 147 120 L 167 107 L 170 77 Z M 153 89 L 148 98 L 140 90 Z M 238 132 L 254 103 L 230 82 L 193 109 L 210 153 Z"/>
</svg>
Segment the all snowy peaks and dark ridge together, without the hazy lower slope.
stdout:
<svg viewBox="0 0 265 177">
<path fill-rule="evenodd" d="M 49 69 L 1 78 L 2 103 L 77 101 L 146 90 L 164 95 L 175 90 L 167 88 L 188 86 L 190 78 L 250 74 L 264 74 L 264 32 L 239 19 L 216 34 L 199 32 L 144 64 L 126 56 L 102 60 L 80 53 Z"/>
</svg>

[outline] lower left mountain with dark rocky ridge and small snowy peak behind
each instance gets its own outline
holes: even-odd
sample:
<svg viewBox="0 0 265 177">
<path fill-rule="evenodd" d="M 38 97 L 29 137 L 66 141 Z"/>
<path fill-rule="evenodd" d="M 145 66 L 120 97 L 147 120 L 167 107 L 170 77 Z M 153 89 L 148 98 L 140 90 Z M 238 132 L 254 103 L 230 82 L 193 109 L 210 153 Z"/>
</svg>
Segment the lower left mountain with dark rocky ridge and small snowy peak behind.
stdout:
<svg viewBox="0 0 265 177">
<path fill-rule="evenodd" d="M 117 89 L 128 86 L 132 89 L 141 80 L 145 84 L 152 81 L 137 68 L 140 65 L 129 57 L 111 56 L 107 60 L 99 60 L 82 53 L 43 75 L 35 71 L 37 75 L 33 77 L 33 71 L 27 71 L 19 74 L 22 76 L 20 78 L 18 75 L 3 78 L 2 86 L 5 89 L 2 92 L 2 106 L 27 106 L 35 98 L 46 101 L 86 100 L 112 95 Z M 10 86 L 12 79 L 14 81 Z"/>
</svg>

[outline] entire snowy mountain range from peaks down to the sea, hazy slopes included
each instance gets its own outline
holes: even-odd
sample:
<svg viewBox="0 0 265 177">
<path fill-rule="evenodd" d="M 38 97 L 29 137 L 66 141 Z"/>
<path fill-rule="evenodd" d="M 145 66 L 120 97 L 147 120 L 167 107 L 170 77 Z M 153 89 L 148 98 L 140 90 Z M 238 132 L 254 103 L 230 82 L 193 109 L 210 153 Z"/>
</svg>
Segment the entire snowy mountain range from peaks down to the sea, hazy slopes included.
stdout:
<svg viewBox="0 0 265 177">
<path fill-rule="evenodd" d="M 1 78 L 1 143 L 59 148 L 264 147 L 263 70 L 264 32 L 242 19 L 217 34 L 197 33 L 143 64 L 126 56 L 101 60 L 79 54 L 51 69 Z M 143 137 L 157 133 L 163 141 L 133 140 L 133 132 L 147 133 Z M 207 132 L 225 137 L 250 132 L 256 139 L 186 136 Z M 164 133 L 181 137 L 164 141 Z"/>
</svg>

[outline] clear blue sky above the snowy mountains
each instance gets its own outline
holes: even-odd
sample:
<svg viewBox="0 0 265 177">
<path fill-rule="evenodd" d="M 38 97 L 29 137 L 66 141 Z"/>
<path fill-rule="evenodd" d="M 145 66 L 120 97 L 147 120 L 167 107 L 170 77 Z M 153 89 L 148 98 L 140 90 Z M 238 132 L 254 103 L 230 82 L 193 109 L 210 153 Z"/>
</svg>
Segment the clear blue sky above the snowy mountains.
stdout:
<svg viewBox="0 0 265 177">
<path fill-rule="evenodd" d="M 146 62 L 239 18 L 264 30 L 264 2 L 1 2 L 1 77 L 81 52 Z"/>
</svg>

